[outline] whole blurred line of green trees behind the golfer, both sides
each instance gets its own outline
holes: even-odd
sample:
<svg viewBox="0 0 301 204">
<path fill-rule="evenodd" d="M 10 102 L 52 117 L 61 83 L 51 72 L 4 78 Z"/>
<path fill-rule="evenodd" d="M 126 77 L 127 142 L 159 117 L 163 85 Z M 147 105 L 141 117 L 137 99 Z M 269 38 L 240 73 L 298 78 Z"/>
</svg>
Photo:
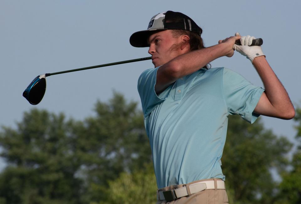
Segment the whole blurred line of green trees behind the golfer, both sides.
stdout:
<svg viewBox="0 0 301 204">
<path fill-rule="evenodd" d="M 156 179 L 143 114 L 114 93 L 95 115 L 67 119 L 31 109 L 16 128 L 2 127 L 0 204 L 156 203 Z M 301 203 L 301 109 L 298 141 L 276 136 L 257 120 L 230 116 L 222 157 L 232 204 Z"/>
</svg>

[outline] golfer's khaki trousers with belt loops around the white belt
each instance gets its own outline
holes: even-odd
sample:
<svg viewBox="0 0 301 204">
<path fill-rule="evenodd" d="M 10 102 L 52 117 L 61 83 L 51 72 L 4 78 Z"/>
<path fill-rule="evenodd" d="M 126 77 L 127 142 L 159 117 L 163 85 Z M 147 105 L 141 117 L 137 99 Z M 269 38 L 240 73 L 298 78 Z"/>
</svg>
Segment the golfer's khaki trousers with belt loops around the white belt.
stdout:
<svg viewBox="0 0 301 204">
<path fill-rule="evenodd" d="M 209 179 L 206 179 L 207 181 Z M 211 180 L 211 179 L 210 179 Z M 195 181 L 199 182 L 199 181 Z M 195 183 L 192 182 L 192 183 Z M 169 187 L 161 188 L 159 191 L 168 191 L 170 189 L 181 188 L 184 184 L 172 185 Z M 224 189 L 207 189 L 190 196 L 178 198 L 173 201 L 158 200 L 156 204 L 228 204 L 228 196 Z"/>
</svg>

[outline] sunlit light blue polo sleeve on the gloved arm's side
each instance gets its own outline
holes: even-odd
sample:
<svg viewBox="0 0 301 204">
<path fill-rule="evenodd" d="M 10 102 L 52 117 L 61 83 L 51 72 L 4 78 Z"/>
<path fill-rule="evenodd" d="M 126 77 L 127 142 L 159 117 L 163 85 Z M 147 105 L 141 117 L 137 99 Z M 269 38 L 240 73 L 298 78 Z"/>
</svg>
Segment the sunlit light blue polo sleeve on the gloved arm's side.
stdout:
<svg viewBox="0 0 301 204">
<path fill-rule="evenodd" d="M 253 113 L 264 89 L 253 85 L 240 74 L 224 68 L 223 92 L 230 115 L 240 115 L 253 123 L 259 117 Z"/>
</svg>

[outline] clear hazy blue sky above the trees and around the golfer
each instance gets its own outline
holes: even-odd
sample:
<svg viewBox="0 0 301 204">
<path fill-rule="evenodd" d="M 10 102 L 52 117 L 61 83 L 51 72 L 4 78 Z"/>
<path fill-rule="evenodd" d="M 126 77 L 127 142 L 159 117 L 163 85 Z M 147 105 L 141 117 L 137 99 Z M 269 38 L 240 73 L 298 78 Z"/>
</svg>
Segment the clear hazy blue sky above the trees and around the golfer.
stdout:
<svg viewBox="0 0 301 204">
<path fill-rule="evenodd" d="M 263 52 L 300 104 L 300 1 L 0 1 L 0 124 L 15 127 L 24 111 L 37 107 L 84 119 L 95 102 L 107 101 L 116 90 L 139 101 L 137 79 L 151 61 L 103 67 L 47 77 L 45 96 L 30 105 L 22 92 L 39 74 L 148 57 L 147 48 L 129 44 L 130 35 L 145 30 L 163 11 L 183 12 L 203 28 L 206 46 L 235 32 L 261 37 Z M 249 60 L 239 53 L 222 57 L 212 67 L 228 67 L 262 86 Z M 294 122 L 261 117 L 277 135 L 295 136 Z"/>
</svg>

